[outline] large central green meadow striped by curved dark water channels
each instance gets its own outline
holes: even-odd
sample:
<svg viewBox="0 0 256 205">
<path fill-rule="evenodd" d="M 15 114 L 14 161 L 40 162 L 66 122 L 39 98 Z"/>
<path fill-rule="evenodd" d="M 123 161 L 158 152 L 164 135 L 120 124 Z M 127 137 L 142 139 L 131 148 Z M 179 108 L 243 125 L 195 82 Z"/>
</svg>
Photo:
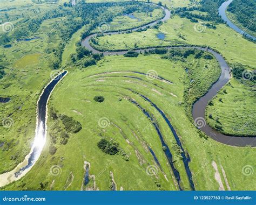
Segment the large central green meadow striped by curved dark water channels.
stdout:
<svg viewBox="0 0 256 205">
<path fill-rule="evenodd" d="M 231 147 L 210 138 L 200 138 L 198 130 L 189 121 L 186 111 L 180 103 L 184 100 L 184 77 L 187 75 L 183 68 L 185 64 L 192 67 L 190 63 L 193 62 L 193 58 L 182 63 L 163 60 L 160 57 L 160 55 L 139 55 L 138 58 L 106 56 L 96 66 L 82 70 L 72 69 L 53 91 L 50 106 L 55 108 L 59 114 L 75 118 L 82 124 L 82 130 L 76 134 L 70 134 L 66 145 L 60 145 L 57 137 L 55 145 L 57 152 L 51 156 L 48 153 L 48 147 L 52 143 L 50 135 L 56 135 L 54 134 L 58 130 L 56 130 L 56 126 L 59 129 L 63 128 L 61 124 L 58 122 L 56 124 L 49 118 L 47 143 L 37 164 L 24 178 L 5 188 L 38 189 L 39 182 L 43 182 L 47 185 L 45 188 L 49 189 L 54 180 L 52 189 L 62 190 L 72 172 L 75 178 L 68 190 L 79 190 L 83 183 L 84 161 L 88 161 L 91 164 L 90 175 L 96 176 L 96 186 L 100 190 L 109 190 L 110 171 L 113 172 L 118 190 L 120 187 L 123 187 L 124 190 L 158 190 L 155 181 L 159 182 L 163 189 L 176 190 L 170 166 L 166 163 L 156 130 L 136 105 L 125 100 L 126 97 L 134 98 L 154 116 L 166 143 L 175 155 L 174 159 L 177 162 L 174 162 L 174 166 L 181 174 L 182 185 L 188 188 L 183 163 L 173 147 L 174 138 L 170 129 L 157 110 L 129 90 L 132 89 L 149 97 L 171 120 L 184 149 L 190 154 L 190 168 L 197 190 L 218 190 L 218 183 L 214 179 L 214 169 L 211 165 L 212 161 L 217 163 L 219 171 L 220 166 L 224 167 L 232 190 L 253 190 L 254 185 L 251 183 L 253 175 L 243 175 L 242 167 L 245 165 L 255 167 L 254 149 Z M 146 76 L 135 73 L 111 73 L 133 70 L 146 73 L 151 69 L 156 70 L 159 76 L 165 77 L 173 84 L 159 80 L 151 81 Z M 100 75 L 89 77 L 95 74 Z M 142 80 L 125 76 L 136 76 Z M 103 95 L 105 101 L 103 103 L 93 101 L 93 97 L 96 95 Z M 119 101 L 119 98 L 122 101 Z M 109 119 L 110 124 L 106 128 L 100 128 L 98 125 L 99 119 L 102 117 Z M 125 161 L 120 155 L 104 154 L 97 147 L 101 138 L 116 140 L 129 155 L 130 160 Z M 149 145 L 156 153 L 169 182 L 166 181 L 159 169 L 157 178 L 154 175 L 146 174 L 146 167 L 156 164 L 145 144 Z M 61 167 L 61 174 L 51 175 L 50 168 L 53 165 Z M 223 181 L 223 183 L 225 182 Z"/>
</svg>

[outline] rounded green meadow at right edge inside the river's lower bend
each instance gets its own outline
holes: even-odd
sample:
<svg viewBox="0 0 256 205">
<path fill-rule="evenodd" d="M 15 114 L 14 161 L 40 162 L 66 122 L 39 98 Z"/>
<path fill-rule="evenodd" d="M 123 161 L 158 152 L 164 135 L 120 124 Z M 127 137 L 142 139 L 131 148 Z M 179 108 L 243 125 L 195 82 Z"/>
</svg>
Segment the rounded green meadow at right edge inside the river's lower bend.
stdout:
<svg viewBox="0 0 256 205">
<path fill-rule="evenodd" d="M 222 132 L 227 135 L 256 136 L 255 97 L 253 87 L 232 79 L 214 98 L 214 106 L 208 105 L 208 124 L 212 127 L 215 124 L 223 126 Z M 210 114 L 213 118 L 209 117 Z"/>
</svg>

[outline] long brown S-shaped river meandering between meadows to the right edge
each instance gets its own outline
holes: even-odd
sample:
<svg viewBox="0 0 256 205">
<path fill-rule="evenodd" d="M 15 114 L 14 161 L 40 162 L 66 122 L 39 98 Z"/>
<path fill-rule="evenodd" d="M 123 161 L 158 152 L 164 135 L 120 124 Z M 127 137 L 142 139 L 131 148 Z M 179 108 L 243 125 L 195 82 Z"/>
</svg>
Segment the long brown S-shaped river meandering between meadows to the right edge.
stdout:
<svg viewBox="0 0 256 205">
<path fill-rule="evenodd" d="M 151 3 L 152 4 L 152 3 Z M 154 4 L 156 5 L 156 4 Z M 159 5 L 156 5 L 159 6 Z M 164 18 L 160 19 L 161 22 L 165 22 L 166 20 L 170 19 L 171 17 L 171 12 L 164 8 L 163 6 L 159 6 L 159 8 L 163 9 L 165 12 Z M 146 24 L 141 27 L 137 27 L 135 29 L 128 29 L 126 31 L 137 31 L 138 29 L 144 29 L 147 26 L 152 26 L 157 24 L 158 20 L 156 22 Z M 104 35 L 114 35 L 118 34 L 118 31 L 112 31 L 112 32 L 105 32 Z M 90 39 L 95 37 L 96 34 L 91 34 L 90 36 L 87 36 L 83 41 L 82 45 L 85 46 L 88 50 L 92 51 L 92 53 L 103 53 L 104 55 L 122 55 L 127 52 L 127 50 L 123 51 L 98 51 L 95 48 L 93 48 L 90 45 Z M 231 146 L 241 146 L 245 147 L 247 145 L 249 146 L 256 146 L 256 136 L 255 137 L 237 137 L 237 136 L 227 136 L 224 135 L 223 133 L 218 132 L 217 130 L 214 130 L 211 128 L 207 123 L 205 119 L 205 110 L 207 107 L 207 104 L 212 98 L 217 95 L 218 91 L 225 86 L 225 84 L 231 79 L 231 69 L 228 67 L 227 62 L 224 60 L 223 56 L 221 56 L 219 53 L 211 50 L 210 48 L 205 48 L 205 47 L 199 47 L 199 46 L 166 46 L 165 48 L 170 49 L 170 48 L 195 48 L 201 51 L 209 52 L 215 56 L 215 58 L 218 60 L 220 68 L 221 68 L 221 74 L 219 76 L 219 79 L 213 83 L 212 87 L 207 91 L 207 93 L 200 97 L 198 101 L 196 101 L 193 105 L 192 108 L 192 116 L 194 119 L 194 122 L 199 122 L 202 123 L 203 126 L 198 126 L 198 129 L 203 131 L 208 137 L 211 137 L 217 142 L 226 144 L 226 145 L 231 145 Z M 144 52 L 144 51 L 149 51 L 150 49 L 153 48 L 141 48 L 141 49 L 136 49 L 133 51 L 136 52 Z"/>
</svg>

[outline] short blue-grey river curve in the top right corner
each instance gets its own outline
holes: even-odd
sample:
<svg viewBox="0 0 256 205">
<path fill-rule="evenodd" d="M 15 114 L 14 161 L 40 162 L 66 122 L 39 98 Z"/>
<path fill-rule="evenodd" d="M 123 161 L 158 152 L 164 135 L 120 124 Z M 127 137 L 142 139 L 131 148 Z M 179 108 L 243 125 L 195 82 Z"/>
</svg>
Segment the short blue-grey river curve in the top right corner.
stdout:
<svg viewBox="0 0 256 205">
<path fill-rule="evenodd" d="M 223 4 L 221 4 L 221 6 L 219 7 L 219 15 L 220 17 L 224 20 L 224 22 L 227 23 L 228 26 L 230 26 L 233 30 L 237 31 L 238 33 L 245 35 L 247 38 L 251 38 L 253 40 L 256 40 L 256 38 L 254 36 L 251 36 L 250 34 L 246 33 L 245 31 L 239 29 L 238 26 L 236 26 L 235 24 L 233 24 L 231 22 L 230 19 L 227 18 L 226 15 L 226 10 L 227 10 L 227 6 L 230 5 L 233 2 L 233 0 L 228 0 L 227 2 L 224 2 Z"/>
</svg>

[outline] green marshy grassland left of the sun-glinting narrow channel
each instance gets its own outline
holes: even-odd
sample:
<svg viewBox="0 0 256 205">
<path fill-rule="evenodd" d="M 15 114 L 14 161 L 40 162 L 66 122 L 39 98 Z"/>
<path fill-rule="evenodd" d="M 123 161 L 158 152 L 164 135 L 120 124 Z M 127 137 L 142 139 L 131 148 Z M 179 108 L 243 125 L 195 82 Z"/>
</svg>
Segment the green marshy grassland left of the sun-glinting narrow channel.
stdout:
<svg viewBox="0 0 256 205">
<path fill-rule="evenodd" d="M 1 54 L 6 56 L 4 60 L 9 64 L 4 69 L 6 75 L 0 80 L 0 93 L 1 97 L 11 98 L 10 102 L 0 104 L 0 116 L 1 119 L 10 117 L 13 120 L 10 128 L 3 127 L 2 123 L 0 126 L 0 141 L 4 142 L 0 149 L 0 163 L 3 165 L 0 173 L 13 169 L 30 151 L 35 136 L 37 100 L 51 80 L 49 63 L 53 54 L 45 51 L 60 42 L 57 35 L 49 38 L 46 34 L 51 26 L 49 30 L 41 27 L 34 33 L 40 39 L 14 40 L 11 48 L 0 47 Z"/>
</svg>

